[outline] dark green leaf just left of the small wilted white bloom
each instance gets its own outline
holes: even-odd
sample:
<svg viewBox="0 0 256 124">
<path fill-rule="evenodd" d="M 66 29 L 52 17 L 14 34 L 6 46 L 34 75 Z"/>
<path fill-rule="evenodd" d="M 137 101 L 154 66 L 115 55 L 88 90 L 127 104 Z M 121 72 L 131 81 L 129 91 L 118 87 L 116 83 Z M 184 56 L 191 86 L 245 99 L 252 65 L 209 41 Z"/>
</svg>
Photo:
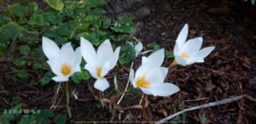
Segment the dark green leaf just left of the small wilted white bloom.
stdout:
<svg viewBox="0 0 256 124">
<path fill-rule="evenodd" d="M 126 44 L 121 48 L 119 63 L 121 65 L 128 65 L 136 59 L 135 49 L 130 45 Z"/>
</svg>

